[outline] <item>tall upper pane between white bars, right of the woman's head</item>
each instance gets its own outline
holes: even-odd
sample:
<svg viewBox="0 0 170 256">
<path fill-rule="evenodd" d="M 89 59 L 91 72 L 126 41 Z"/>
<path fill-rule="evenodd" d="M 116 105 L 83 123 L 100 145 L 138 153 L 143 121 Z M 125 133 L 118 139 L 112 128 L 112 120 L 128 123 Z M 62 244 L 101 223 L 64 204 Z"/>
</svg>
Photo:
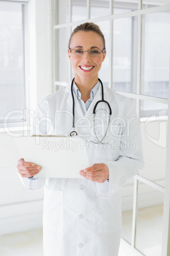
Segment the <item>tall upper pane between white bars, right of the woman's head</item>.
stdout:
<svg viewBox="0 0 170 256">
<path fill-rule="evenodd" d="M 114 90 L 136 92 L 136 43 L 133 44 L 135 25 L 133 18 L 114 20 Z"/>
</svg>

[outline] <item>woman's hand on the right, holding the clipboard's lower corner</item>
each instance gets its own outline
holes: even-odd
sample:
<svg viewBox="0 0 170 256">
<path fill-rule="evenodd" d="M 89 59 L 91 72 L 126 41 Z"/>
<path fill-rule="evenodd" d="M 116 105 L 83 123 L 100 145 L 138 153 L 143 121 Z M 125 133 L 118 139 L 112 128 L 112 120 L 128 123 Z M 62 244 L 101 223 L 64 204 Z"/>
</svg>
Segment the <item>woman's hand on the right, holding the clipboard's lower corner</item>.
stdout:
<svg viewBox="0 0 170 256">
<path fill-rule="evenodd" d="M 98 183 L 103 183 L 109 178 L 108 166 L 106 164 L 93 164 L 93 166 L 88 167 L 79 173 L 84 178 Z"/>
</svg>

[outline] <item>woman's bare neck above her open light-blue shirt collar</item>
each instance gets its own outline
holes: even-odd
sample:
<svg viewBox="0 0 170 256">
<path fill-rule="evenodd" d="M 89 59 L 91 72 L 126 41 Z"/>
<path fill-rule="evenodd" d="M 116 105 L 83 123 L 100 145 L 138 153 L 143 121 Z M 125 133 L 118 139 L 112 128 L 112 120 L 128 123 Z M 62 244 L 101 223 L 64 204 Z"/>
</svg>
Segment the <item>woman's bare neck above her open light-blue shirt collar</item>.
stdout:
<svg viewBox="0 0 170 256">
<path fill-rule="evenodd" d="M 93 87 L 96 85 L 98 82 L 98 78 L 91 81 L 91 80 L 79 80 L 79 79 L 74 79 L 75 84 L 77 85 L 77 88 L 81 92 L 81 99 L 86 103 L 88 99 L 90 98 L 90 93 Z"/>
</svg>

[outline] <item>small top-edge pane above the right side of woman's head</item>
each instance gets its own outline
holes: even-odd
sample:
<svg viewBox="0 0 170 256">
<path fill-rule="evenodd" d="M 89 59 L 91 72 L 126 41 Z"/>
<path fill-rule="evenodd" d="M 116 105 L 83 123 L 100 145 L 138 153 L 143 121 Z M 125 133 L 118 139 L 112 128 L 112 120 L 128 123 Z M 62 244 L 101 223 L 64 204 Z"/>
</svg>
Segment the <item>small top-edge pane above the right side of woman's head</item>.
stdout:
<svg viewBox="0 0 170 256">
<path fill-rule="evenodd" d="M 90 17 L 102 17 L 110 14 L 109 0 L 91 1 Z"/>
</svg>

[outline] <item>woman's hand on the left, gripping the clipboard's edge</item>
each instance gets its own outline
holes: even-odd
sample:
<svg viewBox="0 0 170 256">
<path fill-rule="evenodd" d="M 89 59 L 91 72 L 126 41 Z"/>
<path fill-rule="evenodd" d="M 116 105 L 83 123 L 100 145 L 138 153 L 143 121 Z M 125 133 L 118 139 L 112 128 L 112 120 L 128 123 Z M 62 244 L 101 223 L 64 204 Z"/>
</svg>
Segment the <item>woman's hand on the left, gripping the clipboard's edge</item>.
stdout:
<svg viewBox="0 0 170 256">
<path fill-rule="evenodd" d="M 18 173 L 20 173 L 23 178 L 32 177 L 42 169 L 41 166 L 37 166 L 34 162 L 25 162 L 23 158 L 18 160 L 18 166 L 16 167 L 18 169 Z"/>
</svg>

